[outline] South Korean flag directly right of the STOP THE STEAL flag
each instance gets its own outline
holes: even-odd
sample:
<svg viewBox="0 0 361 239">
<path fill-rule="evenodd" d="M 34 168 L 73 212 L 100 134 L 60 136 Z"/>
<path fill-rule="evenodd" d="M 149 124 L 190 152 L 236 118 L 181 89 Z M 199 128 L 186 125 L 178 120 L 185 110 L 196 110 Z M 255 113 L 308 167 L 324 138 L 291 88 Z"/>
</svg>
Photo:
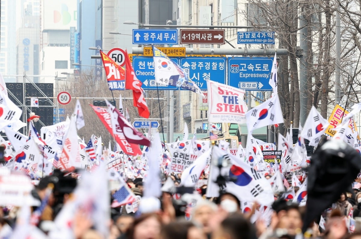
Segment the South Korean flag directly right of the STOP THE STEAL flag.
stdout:
<svg viewBox="0 0 361 239">
<path fill-rule="evenodd" d="M 266 100 L 264 103 L 246 113 L 248 132 L 268 125 L 283 123 L 282 109 L 278 95 Z"/>
</svg>

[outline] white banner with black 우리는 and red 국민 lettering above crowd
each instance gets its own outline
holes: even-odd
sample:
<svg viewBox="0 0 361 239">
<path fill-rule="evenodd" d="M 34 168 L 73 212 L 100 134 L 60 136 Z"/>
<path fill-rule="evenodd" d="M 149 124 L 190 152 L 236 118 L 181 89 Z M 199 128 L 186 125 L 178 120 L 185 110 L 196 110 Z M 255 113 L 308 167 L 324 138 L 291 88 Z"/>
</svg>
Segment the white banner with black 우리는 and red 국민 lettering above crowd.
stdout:
<svg viewBox="0 0 361 239">
<path fill-rule="evenodd" d="M 169 152 L 172 157 L 170 170 L 174 173 L 182 173 L 184 169 L 191 166 L 197 158 L 197 155 L 177 151 L 173 148 L 169 148 Z"/>
</svg>

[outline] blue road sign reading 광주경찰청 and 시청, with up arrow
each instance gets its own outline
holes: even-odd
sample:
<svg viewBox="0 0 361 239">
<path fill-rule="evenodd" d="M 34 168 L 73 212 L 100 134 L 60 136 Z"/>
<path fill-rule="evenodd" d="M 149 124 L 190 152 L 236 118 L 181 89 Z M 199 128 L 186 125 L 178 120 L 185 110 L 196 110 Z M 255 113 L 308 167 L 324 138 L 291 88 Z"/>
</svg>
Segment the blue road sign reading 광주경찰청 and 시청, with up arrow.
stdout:
<svg viewBox="0 0 361 239">
<path fill-rule="evenodd" d="M 181 58 L 181 67 L 201 90 L 207 90 L 207 80 L 226 83 L 226 58 L 224 57 Z"/>
</svg>

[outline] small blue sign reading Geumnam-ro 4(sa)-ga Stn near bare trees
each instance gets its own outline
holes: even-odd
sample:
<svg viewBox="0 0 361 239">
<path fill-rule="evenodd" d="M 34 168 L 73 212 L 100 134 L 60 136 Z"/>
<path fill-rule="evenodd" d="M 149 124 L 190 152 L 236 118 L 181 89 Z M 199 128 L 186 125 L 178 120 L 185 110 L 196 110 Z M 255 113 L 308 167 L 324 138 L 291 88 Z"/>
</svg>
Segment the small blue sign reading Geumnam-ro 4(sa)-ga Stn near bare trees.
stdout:
<svg viewBox="0 0 361 239">
<path fill-rule="evenodd" d="M 274 31 L 239 31 L 238 44 L 274 44 Z"/>
</svg>

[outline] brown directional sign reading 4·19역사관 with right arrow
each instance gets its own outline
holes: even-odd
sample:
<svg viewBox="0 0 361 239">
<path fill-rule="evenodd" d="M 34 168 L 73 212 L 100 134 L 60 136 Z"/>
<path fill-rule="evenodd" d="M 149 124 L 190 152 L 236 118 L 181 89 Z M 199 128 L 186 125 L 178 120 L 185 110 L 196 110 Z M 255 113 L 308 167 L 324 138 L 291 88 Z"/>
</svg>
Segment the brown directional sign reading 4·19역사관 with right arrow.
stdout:
<svg viewBox="0 0 361 239">
<path fill-rule="evenodd" d="M 181 29 L 181 44 L 225 44 L 225 30 Z"/>
</svg>

